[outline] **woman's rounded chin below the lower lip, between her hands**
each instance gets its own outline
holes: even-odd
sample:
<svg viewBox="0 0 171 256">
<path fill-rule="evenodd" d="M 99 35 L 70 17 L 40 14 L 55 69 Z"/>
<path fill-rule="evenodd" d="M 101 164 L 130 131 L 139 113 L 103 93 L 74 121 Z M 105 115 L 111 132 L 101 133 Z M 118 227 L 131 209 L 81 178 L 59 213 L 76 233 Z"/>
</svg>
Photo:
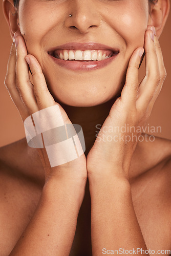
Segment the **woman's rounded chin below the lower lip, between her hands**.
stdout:
<svg viewBox="0 0 171 256">
<path fill-rule="evenodd" d="M 101 83 L 91 80 L 89 82 L 86 80 L 83 83 L 77 80 L 77 83 L 74 82 L 74 84 L 68 81 L 59 81 L 59 84 L 62 84 L 62 86 L 58 86 L 53 81 L 48 83 L 48 89 L 54 100 L 59 104 L 77 107 L 91 107 L 103 104 L 116 97 L 121 91 L 119 83 L 116 83 L 114 87 L 114 81 L 106 83 L 106 80 Z"/>
</svg>

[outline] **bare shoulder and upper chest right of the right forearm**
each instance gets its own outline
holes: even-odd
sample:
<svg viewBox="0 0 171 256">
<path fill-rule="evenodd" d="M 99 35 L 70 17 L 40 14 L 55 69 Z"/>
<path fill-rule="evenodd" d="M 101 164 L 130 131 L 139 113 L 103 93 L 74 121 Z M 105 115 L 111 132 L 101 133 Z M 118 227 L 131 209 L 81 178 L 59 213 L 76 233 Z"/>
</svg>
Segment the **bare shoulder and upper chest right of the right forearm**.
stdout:
<svg viewBox="0 0 171 256">
<path fill-rule="evenodd" d="M 130 169 L 133 205 L 146 245 L 170 249 L 171 141 L 155 137 L 150 142 L 144 137 Z"/>
</svg>

